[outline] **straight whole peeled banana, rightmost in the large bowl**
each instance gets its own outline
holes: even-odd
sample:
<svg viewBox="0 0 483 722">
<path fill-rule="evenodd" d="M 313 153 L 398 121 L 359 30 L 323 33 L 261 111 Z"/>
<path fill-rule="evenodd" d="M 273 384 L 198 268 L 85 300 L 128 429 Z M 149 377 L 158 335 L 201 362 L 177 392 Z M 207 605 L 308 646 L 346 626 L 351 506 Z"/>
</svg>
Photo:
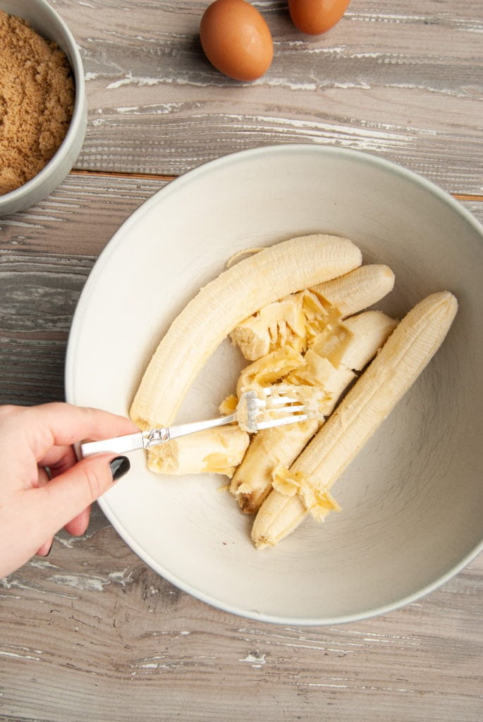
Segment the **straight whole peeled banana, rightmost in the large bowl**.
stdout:
<svg viewBox="0 0 483 722">
<path fill-rule="evenodd" d="M 322 521 L 337 508 L 332 484 L 438 351 L 457 310 L 456 298 L 443 291 L 407 313 L 295 464 L 274 479 L 253 524 L 256 547 L 274 546 L 309 513 Z"/>
</svg>

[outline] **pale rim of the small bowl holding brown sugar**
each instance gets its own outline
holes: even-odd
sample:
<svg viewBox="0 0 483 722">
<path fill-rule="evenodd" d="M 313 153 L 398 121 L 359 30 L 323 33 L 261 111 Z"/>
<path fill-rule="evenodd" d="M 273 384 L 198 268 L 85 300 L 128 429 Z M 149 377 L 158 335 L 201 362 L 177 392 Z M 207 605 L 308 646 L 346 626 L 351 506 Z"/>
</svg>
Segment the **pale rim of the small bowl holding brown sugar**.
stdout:
<svg viewBox="0 0 483 722">
<path fill-rule="evenodd" d="M 72 113 L 71 122 L 69 123 L 69 129 L 64 136 L 63 141 L 59 145 L 56 152 L 51 157 L 44 167 L 36 173 L 30 181 L 23 183 L 22 186 L 15 188 L 14 191 L 4 193 L 0 196 L 0 211 L 3 205 L 9 206 L 14 205 L 15 201 L 21 201 L 25 196 L 29 196 L 32 191 L 45 183 L 45 181 L 55 173 L 56 169 L 64 162 L 64 153 L 66 149 L 75 143 L 79 131 L 82 133 L 82 126 L 84 125 L 84 113 L 86 112 L 86 85 L 84 79 L 84 66 L 82 64 L 82 57 L 79 52 L 77 42 L 72 35 L 69 26 L 66 24 L 64 19 L 53 9 L 53 7 L 47 2 L 47 0 L 36 0 L 36 3 L 40 5 L 46 13 L 51 17 L 51 21 L 56 24 L 66 36 L 66 45 L 68 45 L 68 51 L 70 57 L 67 58 L 71 69 L 74 72 L 75 82 L 75 100 L 74 100 L 74 111 Z M 1 7 L 0 7 L 1 9 Z M 15 17 L 22 17 L 22 15 L 16 15 Z M 43 37 L 43 36 L 42 36 Z M 64 53 L 66 50 L 61 48 Z M 67 53 L 66 53 L 67 54 Z"/>
</svg>

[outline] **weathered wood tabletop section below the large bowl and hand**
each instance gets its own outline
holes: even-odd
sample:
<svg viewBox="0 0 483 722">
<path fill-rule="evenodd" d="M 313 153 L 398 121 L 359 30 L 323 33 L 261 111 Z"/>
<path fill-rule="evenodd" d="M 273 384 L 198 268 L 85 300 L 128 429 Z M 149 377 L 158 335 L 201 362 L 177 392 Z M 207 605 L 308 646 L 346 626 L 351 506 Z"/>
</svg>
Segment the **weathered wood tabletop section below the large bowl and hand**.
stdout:
<svg viewBox="0 0 483 722">
<path fill-rule="evenodd" d="M 0 582 L 0 719 L 477 722 L 482 586 L 480 557 L 383 617 L 253 622 L 158 577 L 96 508 Z"/>
</svg>

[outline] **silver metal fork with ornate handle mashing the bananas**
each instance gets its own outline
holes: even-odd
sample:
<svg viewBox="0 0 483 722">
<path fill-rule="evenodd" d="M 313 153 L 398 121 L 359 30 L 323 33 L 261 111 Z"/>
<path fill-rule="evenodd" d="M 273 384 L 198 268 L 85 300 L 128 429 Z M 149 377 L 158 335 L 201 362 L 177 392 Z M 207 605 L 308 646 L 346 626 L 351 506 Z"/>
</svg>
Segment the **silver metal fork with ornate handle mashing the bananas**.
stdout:
<svg viewBox="0 0 483 722">
<path fill-rule="evenodd" d="M 233 422 L 245 431 L 256 433 L 272 426 L 295 424 L 308 419 L 308 414 L 304 413 L 305 406 L 287 391 L 279 391 L 276 386 L 271 386 L 265 388 L 263 394 L 263 398 L 260 398 L 256 391 L 245 391 L 240 396 L 235 412 L 229 416 L 149 429 L 113 439 L 87 441 L 80 445 L 80 455 L 85 458 L 96 453 L 126 453 L 147 449 L 180 436 Z"/>
</svg>

